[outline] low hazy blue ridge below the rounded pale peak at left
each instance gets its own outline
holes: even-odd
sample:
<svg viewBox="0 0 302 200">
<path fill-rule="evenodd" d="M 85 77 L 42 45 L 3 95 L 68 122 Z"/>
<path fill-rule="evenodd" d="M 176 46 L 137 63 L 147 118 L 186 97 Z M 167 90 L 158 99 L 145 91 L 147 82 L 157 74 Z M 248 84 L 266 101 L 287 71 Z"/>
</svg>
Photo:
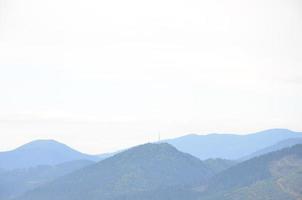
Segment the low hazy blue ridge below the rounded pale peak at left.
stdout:
<svg viewBox="0 0 302 200">
<path fill-rule="evenodd" d="M 76 160 L 55 166 L 41 165 L 0 172 L 0 200 L 12 199 L 93 163 L 90 160 Z"/>
</svg>

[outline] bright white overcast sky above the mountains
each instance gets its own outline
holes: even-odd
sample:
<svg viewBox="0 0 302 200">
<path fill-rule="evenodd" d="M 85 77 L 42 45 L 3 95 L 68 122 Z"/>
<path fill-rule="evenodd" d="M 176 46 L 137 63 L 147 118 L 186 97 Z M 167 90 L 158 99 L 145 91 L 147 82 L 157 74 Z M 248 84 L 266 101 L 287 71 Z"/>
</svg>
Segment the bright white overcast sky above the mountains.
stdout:
<svg viewBox="0 0 302 200">
<path fill-rule="evenodd" d="M 0 151 L 302 131 L 300 0 L 0 0 Z"/>
</svg>

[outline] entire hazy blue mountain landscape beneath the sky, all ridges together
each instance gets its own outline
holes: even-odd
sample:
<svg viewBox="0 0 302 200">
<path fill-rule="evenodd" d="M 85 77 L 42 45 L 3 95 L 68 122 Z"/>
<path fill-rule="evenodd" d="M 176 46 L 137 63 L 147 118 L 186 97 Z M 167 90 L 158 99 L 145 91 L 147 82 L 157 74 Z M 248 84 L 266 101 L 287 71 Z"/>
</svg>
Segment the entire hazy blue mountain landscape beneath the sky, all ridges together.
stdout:
<svg viewBox="0 0 302 200">
<path fill-rule="evenodd" d="M 167 142 L 103 156 L 83 154 L 53 140 L 1 152 L 0 200 L 302 197 L 299 132 L 271 129 L 240 136 L 188 135 Z"/>
</svg>

